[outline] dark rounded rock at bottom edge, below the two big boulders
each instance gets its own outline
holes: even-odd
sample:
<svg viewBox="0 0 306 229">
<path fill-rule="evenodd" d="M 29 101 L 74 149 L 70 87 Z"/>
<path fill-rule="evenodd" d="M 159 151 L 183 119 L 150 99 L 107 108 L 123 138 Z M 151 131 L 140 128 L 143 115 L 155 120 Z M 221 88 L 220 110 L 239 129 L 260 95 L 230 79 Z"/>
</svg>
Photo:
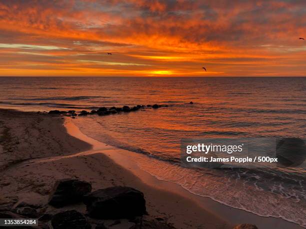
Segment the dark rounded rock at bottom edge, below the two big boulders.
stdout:
<svg viewBox="0 0 306 229">
<path fill-rule="evenodd" d="M 53 229 L 91 229 L 83 214 L 71 210 L 57 213 L 51 220 Z"/>
</svg>

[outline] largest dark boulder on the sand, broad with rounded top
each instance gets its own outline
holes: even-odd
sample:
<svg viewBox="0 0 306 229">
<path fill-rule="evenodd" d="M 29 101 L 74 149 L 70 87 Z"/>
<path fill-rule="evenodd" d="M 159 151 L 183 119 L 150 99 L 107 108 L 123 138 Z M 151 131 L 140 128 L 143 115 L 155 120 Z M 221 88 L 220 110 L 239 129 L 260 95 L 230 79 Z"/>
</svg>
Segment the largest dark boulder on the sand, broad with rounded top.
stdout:
<svg viewBox="0 0 306 229">
<path fill-rule="evenodd" d="M 130 187 L 100 189 L 83 198 L 89 216 L 97 219 L 128 219 L 146 213 L 143 193 Z"/>
</svg>

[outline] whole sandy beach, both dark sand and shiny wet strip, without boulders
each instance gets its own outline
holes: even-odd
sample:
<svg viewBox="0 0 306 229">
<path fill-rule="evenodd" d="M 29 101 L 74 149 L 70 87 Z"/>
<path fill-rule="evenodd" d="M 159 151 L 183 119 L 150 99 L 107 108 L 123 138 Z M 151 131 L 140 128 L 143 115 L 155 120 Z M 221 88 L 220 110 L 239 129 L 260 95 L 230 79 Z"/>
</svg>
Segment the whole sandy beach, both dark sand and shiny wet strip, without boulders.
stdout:
<svg viewBox="0 0 306 229">
<path fill-rule="evenodd" d="M 70 118 L 0 110 L 0 120 L 0 195 L 17 196 L 18 203 L 39 206 L 41 214 L 71 209 L 85 214 L 82 204 L 62 209 L 47 205 L 55 181 L 69 178 L 89 182 L 92 191 L 112 186 L 133 187 L 144 194 L 150 217 L 162 217 L 177 229 L 230 229 L 238 223 L 256 222 L 259 228 L 271 225 L 299 228 L 280 219 L 258 217 L 221 205 L 159 181 L 130 160 L 132 152 L 83 135 Z"/>
</svg>

